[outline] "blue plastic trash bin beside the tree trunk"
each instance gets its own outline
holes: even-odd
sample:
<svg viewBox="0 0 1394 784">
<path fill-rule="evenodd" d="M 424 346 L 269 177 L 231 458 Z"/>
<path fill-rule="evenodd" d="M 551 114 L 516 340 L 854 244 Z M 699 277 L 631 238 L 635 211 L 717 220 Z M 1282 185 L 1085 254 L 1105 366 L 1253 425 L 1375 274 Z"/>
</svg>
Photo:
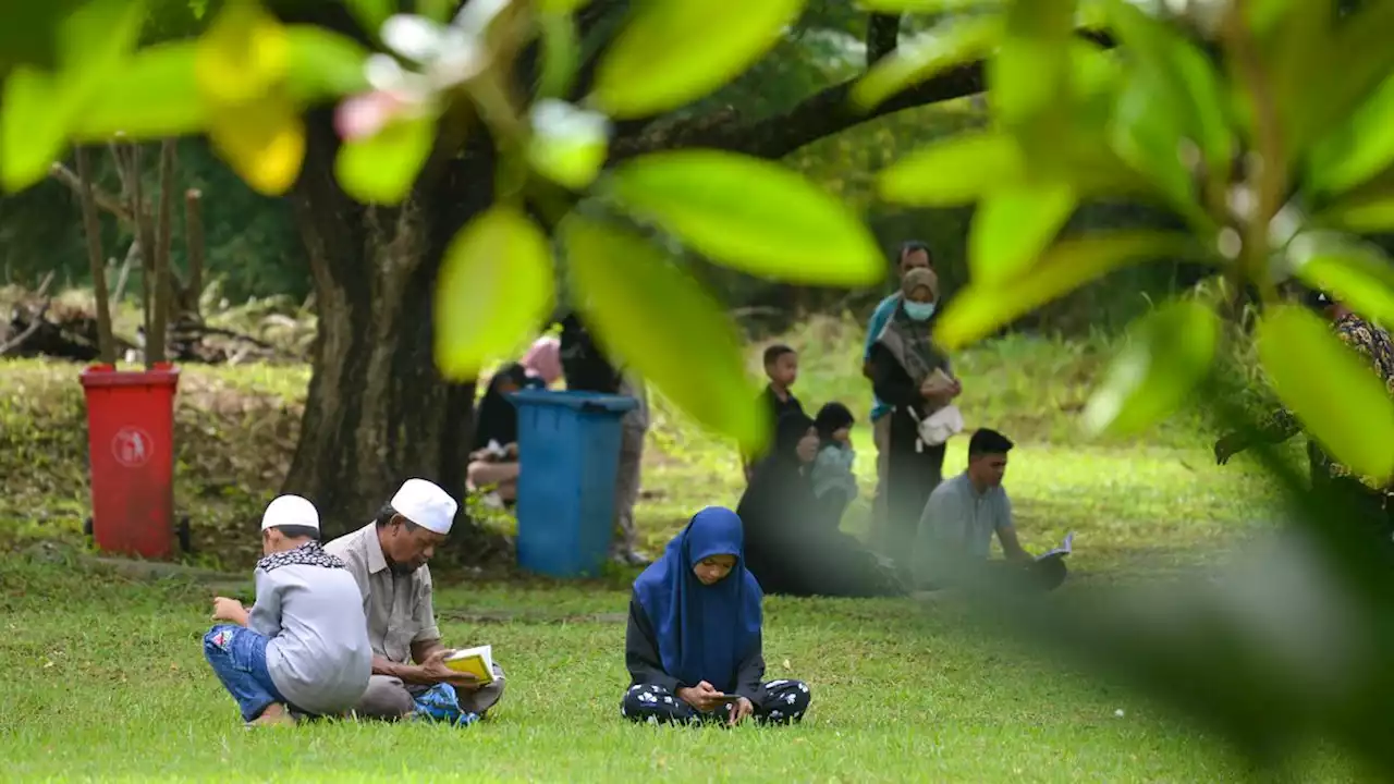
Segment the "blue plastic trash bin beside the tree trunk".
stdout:
<svg viewBox="0 0 1394 784">
<path fill-rule="evenodd" d="M 519 566 L 553 578 L 597 576 L 615 533 L 623 395 L 523 389 L 519 410 Z"/>
</svg>

